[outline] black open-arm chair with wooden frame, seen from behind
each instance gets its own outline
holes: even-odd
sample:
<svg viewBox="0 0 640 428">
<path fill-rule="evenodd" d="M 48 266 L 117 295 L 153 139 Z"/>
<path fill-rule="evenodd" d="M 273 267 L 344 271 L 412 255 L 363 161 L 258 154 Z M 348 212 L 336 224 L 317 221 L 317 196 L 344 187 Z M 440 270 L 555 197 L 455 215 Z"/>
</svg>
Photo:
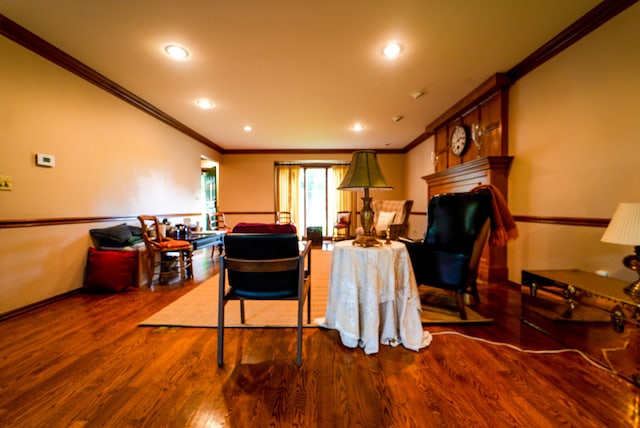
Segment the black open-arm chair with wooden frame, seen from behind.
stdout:
<svg viewBox="0 0 640 428">
<path fill-rule="evenodd" d="M 242 323 L 245 300 L 297 300 L 296 364 L 301 365 L 305 299 L 307 322 L 311 322 L 311 242 L 301 249 L 295 234 L 231 233 L 224 238 L 224 248 L 219 274 L 218 365 L 223 362 L 224 306 L 229 300 L 240 301 Z"/>
</svg>

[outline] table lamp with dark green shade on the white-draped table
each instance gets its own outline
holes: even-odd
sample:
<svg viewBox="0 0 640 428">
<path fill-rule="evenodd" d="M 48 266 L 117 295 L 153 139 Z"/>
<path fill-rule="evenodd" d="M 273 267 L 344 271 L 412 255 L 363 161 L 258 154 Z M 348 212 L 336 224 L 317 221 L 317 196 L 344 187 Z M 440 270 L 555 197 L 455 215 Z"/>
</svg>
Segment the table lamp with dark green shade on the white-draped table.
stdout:
<svg viewBox="0 0 640 428">
<path fill-rule="evenodd" d="M 362 247 L 380 245 L 380 242 L 371 231 L 373 227 L 373 210 L 371 209 L 369 189 L 390 190 L 393 189 L 393 187 L 387 184 L 387 181 L 382 175 L 382 171 L 380 171 L 376 152 L 373 150 L 359 150 L 354 152 L 349 171 L 347 171 L 347 175 L 345 175 L 338 189 L 350 191 L 364 190 L 362 211 L 360 211 L 360 221 L 364 229 L 364 234 L 356 237 L 353 245 L 360 245 Z"/>
</svg>

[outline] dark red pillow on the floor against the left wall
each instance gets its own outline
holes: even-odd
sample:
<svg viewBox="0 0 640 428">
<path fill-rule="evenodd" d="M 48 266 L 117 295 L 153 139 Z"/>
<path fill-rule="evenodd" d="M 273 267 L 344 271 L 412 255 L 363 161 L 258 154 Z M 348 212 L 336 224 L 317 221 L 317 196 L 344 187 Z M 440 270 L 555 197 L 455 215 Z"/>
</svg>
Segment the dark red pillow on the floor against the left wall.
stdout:
<svg viewBox="0 0 640 428">
<path fill-rule="evenodd" d="M 135 287 L 137 251 L 100 251 L 89 248 L 87 275 L 82 288 L 94 293 L 118 293 Z"/>
</svg>

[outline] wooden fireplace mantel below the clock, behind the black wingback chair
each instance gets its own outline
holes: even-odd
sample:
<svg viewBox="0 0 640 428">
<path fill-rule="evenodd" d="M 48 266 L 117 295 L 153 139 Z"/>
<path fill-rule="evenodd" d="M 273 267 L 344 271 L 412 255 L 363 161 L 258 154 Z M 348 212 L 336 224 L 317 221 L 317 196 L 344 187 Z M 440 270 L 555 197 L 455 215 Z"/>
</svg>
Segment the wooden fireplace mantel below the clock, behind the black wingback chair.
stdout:
<svg viewBox="0 0 640 428">
<path fill-rule="evenodd" d="M 506 200 L 512 160 L 513 156 L 487 156 L 426 175 L 422 179 L 427 182 L 428 200 L 438 193 L 468 192 L 479 184 L 495 186 Z M 508 274 L 507 248 L 487 245 L 480 259 L 479 279 L 506 281 Z"/>
</svg>

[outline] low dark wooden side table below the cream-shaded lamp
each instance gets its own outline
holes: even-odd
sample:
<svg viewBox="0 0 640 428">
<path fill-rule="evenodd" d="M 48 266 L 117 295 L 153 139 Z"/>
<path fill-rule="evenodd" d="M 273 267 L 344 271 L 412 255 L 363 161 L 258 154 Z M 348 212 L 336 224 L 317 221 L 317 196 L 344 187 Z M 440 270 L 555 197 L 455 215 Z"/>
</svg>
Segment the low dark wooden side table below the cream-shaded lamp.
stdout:
<svg viewBox="0 0 640 428">
<path fill-rule="evenodd" d="M 627 285 L 577 269 L 523 270 L 520 320 L 640 386 L 640 304 Z"/>
</svg>

